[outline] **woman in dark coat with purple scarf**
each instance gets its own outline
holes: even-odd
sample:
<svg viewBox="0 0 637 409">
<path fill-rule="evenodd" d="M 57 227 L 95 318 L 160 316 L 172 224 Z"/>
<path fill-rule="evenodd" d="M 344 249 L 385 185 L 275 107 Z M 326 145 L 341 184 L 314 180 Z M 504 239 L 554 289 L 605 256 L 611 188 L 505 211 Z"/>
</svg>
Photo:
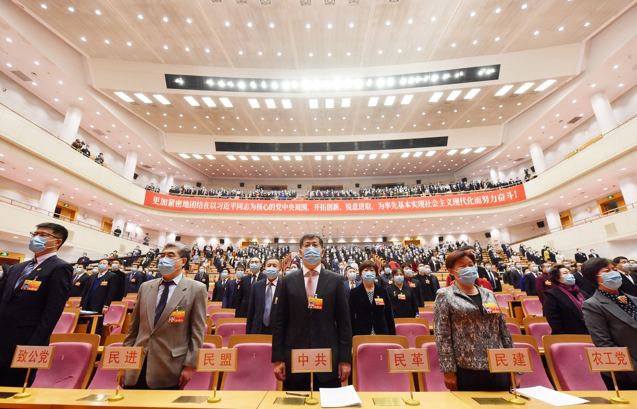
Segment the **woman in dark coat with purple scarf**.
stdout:
<svg viewBox="0 0 637 409">
<path fill-rule="evenodd" d="M 590 298 L 589 293 L 575 285 L 575 277 L 562 264 L 556 264 L 548 273 L 552 288 L 544 292 L 542 306 L 544 317 L 551 326 L 553 335 L 582 334 L 589 330 L 584 322 L 582 303 Z"/>
</svg>

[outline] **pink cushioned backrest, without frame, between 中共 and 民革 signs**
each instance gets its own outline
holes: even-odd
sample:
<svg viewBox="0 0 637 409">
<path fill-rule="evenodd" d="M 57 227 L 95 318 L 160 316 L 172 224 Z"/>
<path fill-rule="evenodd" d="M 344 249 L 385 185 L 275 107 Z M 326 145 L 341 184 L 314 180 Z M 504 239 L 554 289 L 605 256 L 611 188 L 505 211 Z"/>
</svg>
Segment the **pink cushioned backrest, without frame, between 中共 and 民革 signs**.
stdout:
<svg viewBox="0 0 637 409">
<path fill-rule="evenodd" d="M 403 349 L 398 343 L 362 343 L 356 354 L 356 390 L 359 392 L 409 392 L 409 373 L 389 373 L 387 350 Z"/>
</svg>

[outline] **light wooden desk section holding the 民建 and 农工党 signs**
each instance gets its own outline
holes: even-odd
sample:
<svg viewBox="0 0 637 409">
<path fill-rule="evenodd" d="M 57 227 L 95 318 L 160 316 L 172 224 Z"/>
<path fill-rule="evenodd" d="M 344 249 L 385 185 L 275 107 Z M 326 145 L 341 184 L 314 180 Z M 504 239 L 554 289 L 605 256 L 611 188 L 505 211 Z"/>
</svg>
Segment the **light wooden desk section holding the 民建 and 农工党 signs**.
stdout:
<svg viewBox="0 0 637 409">
<path fill-rule="evenodd" d="M 615 391 L 575 391 L 575 392 L 564 392 L 564 393 L 572 395 L 572 396 L 577 396 L 578 398 L 596 397 L 596 398 L 610 399 L 613 396 L 615 396 Z M 513 396 L 512 394 L 508 392 L 452 392 L 452 394 L 460 398 L 462 402 L 466 403 L 466 405 L 468 405 L 470 408 L 474 408 L 474 409 L 496 408 L 501 406 L 480 405 L 480 403 L 474 401 L 472 398 L 504 398 L 508 400 L 509 398 L 512 398 Z M 627 398 L 629 401 L 631 401 L 631 403 L 629 405 L 615 405 L 611 403 L 608 405 L 594 405 L 591 407 L 595 409 L 607 409 L 607 408 L 618 409 L 618 408 L 624 408 L 624 407 L 632 408 L 637 403 L 637 391 L 619 391 L 619 394 L 620 396 L 622 396 L 622 398 Z M 502 406 L 502 407 L 505 407 L 505 406 Z M 512 405 L 508 407 L 510 408 L 517 407 L 517 408 L 526 408 L 526 409 L 549 409 L 549 408 L 555 409 L 556 406 L 550 405 L 548 403 L 544 403 L 542 401 L 538 401 L 538 399 L 531 398 L 530 401 L 525 400 L 524 405 L 520 405 L 520 406 Z M 583 406 L 577 405 L 577 406 L 563 406 L 563 407 L 576 408 L 576 407 L 583 407 Z"/>
</svg>

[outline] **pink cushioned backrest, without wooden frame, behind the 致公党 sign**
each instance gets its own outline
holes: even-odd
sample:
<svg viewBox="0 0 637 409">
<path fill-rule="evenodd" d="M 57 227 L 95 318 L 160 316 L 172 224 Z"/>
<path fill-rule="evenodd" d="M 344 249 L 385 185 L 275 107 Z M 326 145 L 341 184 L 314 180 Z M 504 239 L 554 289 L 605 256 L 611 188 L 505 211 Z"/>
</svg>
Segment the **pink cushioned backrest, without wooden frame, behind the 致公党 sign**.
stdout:
<svg viewBox="0 0 637 409">
<path fill-rule="evenodd" d="M 93 345 L 89 342 L 55 342 L 51 366 L 40 369 L 32 387 L 82 389 L 87 371 L 92 370 Z"/>
</svg>

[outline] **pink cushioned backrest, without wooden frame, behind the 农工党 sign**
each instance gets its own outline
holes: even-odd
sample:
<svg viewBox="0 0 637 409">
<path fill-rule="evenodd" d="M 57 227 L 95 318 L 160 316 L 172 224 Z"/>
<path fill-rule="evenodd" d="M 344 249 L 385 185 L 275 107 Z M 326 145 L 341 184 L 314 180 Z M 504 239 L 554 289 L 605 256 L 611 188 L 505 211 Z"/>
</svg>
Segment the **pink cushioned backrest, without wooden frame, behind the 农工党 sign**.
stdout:
<svg viewBox="0 0 637 409">
<path fill-rule="evenodd" d="M 599 372 L 592 372 L 585 348 L 594 348 L 592 343 L 560 342 L 550 345 L 555 375 L 562 391 L 606 391 Z"/>
</svg>

